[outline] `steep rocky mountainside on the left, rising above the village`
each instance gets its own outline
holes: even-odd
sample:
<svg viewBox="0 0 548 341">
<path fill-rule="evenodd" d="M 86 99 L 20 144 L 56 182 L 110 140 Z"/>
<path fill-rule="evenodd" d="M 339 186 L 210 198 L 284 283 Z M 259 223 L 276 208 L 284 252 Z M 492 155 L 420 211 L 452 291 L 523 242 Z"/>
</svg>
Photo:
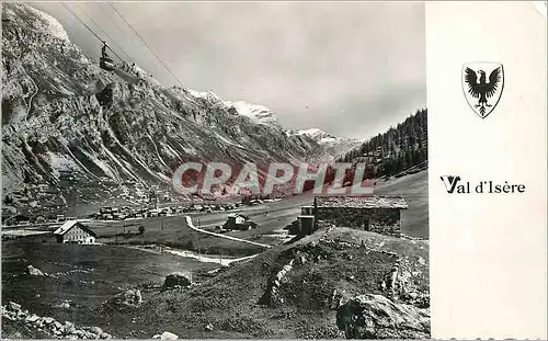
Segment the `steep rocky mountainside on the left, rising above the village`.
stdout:
<svg viewBox="0 0 548 341">
<path fill-rule="evenodd" d="M 66 177 L 72 187 L 78 181 L 96 187 L 168 186 L 174 169 L 187 160 L 332 157 L 313 138 L 286 134 L 274 115 L 254 115 L 259 106 L 235 106 L 213 93 L 107 72 L 55 19 L 26 4 L 3 4 L 2 19 L 4 193 L 59 190 Z"/>
</svg>

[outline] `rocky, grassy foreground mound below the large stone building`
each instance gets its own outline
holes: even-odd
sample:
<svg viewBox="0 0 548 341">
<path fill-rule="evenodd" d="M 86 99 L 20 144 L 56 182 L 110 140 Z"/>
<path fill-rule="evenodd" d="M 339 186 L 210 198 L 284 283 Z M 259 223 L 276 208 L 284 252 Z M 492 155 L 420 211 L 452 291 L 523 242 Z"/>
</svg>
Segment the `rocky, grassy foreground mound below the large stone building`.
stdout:
<svg viewBox="0 0 548 341">
<path fill-rule="evenodd" d="M 133 338 L 424 339 L 427 260 L 425 240 L 329 227 L 192 283 L 167 279 L 138 306 L 102 314 L 133 316 L 117 329 Z"/>
</svg>

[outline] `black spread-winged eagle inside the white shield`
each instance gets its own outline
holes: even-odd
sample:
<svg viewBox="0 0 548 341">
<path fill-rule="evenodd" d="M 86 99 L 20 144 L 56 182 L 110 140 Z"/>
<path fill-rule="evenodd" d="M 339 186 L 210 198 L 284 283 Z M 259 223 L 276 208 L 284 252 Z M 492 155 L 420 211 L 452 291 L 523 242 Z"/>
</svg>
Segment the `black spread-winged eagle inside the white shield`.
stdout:
<svg viewBox="0 0 548 341">
<path fill-rule="evenodd" d="M 493 96 L 501 82 L 501 67 L 491 71 L 491 75 L 489 75 L 489 82 L 487 81 L 486 71 L 480 69 L 478 73 L 480 75 L 479 81 L 476 71 L 467 67 L 465 70 L 465 81 L 468 83 L 468 93 L 472 98 L 479 99 L 475 107 L 479 107 L 479 112 L 483 116 L 486 114 L 486 107 L 492 106 L 489 104 L 488 99 Z"/>
</svg>

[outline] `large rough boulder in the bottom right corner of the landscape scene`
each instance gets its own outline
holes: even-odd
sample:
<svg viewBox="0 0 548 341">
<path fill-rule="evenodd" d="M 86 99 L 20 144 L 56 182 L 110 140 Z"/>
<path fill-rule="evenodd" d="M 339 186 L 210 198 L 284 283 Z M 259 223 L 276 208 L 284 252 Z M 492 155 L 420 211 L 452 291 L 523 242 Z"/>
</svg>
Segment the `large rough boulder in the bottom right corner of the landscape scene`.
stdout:
<svg viewBox="0 0 548 341">
<path fill-rule="evenodd" d="M 346 339 L 430 339 L 430 309 L 359 295 L 339 308 L 336 326 Z"/>
</svg>

